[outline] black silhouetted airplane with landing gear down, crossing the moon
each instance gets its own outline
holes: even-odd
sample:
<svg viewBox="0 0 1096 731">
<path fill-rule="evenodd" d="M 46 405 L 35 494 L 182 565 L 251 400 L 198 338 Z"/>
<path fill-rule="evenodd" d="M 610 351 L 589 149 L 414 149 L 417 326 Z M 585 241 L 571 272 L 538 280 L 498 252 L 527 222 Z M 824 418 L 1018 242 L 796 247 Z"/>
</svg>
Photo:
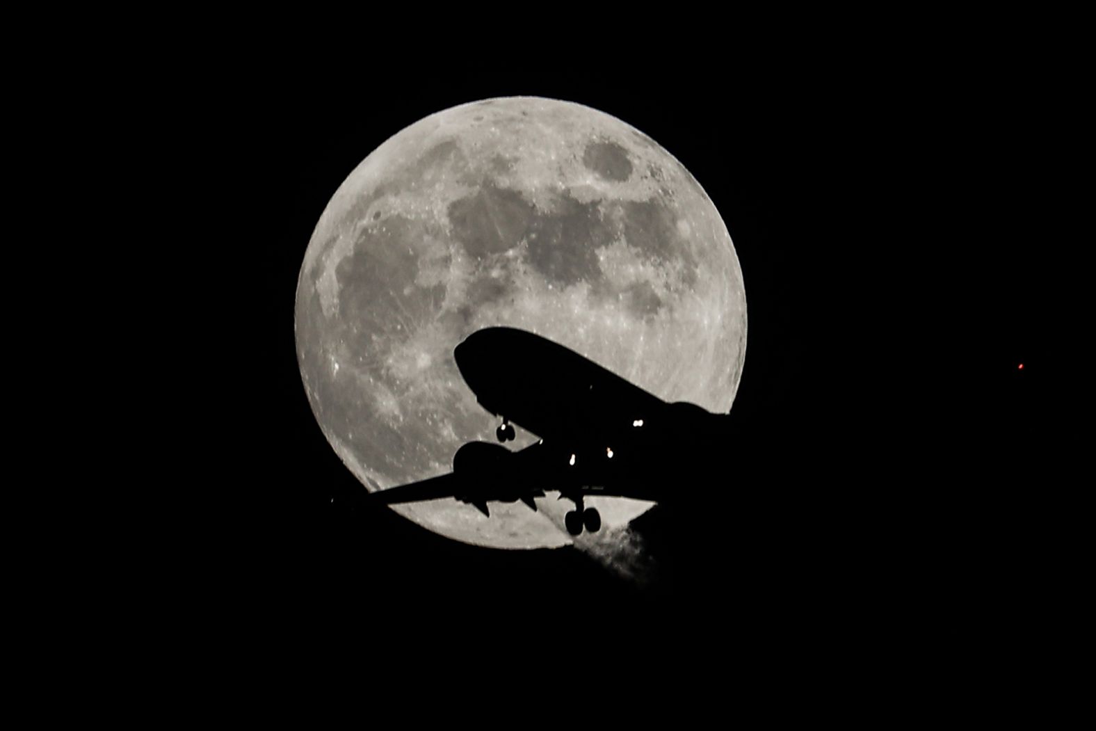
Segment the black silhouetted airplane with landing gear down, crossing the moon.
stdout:
<svg viewBox="0 0 1096 731">
<path fill-rule="evenodd" d="M 729 418 L 678 401 L 667 403 L 550 340 L 516 328 L 486 328 L 454 349 L 457 368 L 477 401 L 502 421 L 500 443 L 515 438 L 513 424 L 541 437 L 512 452 L 502 444 L 469 442 L 457 449 L 453 471 L 365 496 L 398 504 L 455 498 L 490 516 L 488 503 L 558 491 L 574 503 L 564 516 L 571 535 L 601 528 L 587 495 L 672 502 L 675 486 L 696 477 Z M 690 476 L 690 472 L 693 473 Z"/>
</svg>

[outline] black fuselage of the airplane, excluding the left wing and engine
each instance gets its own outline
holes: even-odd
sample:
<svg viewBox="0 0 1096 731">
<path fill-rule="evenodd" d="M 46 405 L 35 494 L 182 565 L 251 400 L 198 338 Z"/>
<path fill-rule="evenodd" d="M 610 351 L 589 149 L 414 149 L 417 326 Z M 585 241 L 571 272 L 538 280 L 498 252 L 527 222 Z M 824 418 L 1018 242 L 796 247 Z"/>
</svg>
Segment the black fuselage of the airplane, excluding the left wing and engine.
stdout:
<svg viewBox="0 0 1096 731">
<path fill-rule="evenodd" d="M 543 437 L 512 460 L 538 489 L 665 501 L 721 419 L 524 330 L 479 330 L 454 357 L 484 409 Z"/>
</svg>

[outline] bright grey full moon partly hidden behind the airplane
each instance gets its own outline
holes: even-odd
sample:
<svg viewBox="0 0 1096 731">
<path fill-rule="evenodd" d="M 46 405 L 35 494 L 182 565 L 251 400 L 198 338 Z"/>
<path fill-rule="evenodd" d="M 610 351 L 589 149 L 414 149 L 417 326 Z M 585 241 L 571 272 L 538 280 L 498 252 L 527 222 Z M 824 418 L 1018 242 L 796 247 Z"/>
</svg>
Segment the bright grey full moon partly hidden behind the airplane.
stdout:
<svg viewBox="0 0 1096 731">
<path fill-rule="evenodd" d="M 699 183 L 620 119 L 538 98 L 445 110 L 374 150 L 316 225 L 295 319 L 312 412 L 370 491 L 447 472 L 460 445 L 494 439 L 453 359 L 480 328 L 533 331 L 722 412 L 746 343 L 738 256 Z M 536 438 L 518 429 L 510 446 Z M 490 503 L 490 517 L 453 499 L 392 510 L 480 546 L 596 548 L 652 505 L 589 499 L 603 528 L 572 538 L 557 498 L 536 512 Z"/>
</svg>

